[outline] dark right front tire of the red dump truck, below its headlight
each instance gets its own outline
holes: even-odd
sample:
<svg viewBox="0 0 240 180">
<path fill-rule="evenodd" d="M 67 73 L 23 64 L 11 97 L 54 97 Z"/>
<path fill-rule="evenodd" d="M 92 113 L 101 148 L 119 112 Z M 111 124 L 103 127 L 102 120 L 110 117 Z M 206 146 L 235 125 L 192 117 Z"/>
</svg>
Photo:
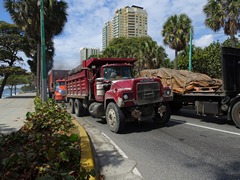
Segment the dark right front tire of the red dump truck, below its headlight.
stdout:
<svg viewBox="0 0 240 180">
<path fill-rule="evenodd" d="M 163 113 L 163 116 L 161 117 L 160 114 L 158 113 L 158 107 L 155 108 L 155 117 L 153 118 L 153 121 L 156 124 L 166 124 L 171 116 L 171 109 L 168 103 L 162 103 L 164 106 L 166 106 L 166 111 Z"/>
</svg>

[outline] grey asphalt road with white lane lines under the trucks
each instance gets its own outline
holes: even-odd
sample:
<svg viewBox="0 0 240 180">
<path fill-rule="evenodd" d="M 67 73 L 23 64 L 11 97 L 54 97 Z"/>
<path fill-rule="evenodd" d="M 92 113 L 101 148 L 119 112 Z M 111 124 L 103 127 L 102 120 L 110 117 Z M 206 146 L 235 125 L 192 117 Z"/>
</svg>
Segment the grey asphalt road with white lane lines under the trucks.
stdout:
<svg viewBox="0 0 240 180">
<path fill-rule="evenodd" d="M 114 134 L 105 121 L 84 117 L 128 156 L 146 180 L 240 179 L 240 129 L 226 117 L 182 109 L 165 126 L 128 123 Z"/>
</svg>

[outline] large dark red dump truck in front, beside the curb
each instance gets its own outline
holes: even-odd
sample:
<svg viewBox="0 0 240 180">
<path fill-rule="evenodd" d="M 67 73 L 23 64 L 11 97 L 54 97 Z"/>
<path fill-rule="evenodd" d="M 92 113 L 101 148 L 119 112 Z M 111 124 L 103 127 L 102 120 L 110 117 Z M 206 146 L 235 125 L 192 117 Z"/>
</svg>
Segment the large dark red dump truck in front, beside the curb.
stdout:
<svg viewBox="0 0 240 180">
<path fill-rule="evenodd" d="M 92 58 L 69 71 L 66 99 L 70 112 L 106 118 L 109 129 L 119 133 L 125 122 L 153 119 L 165 124 L 170 119 L 170 87 L 158 78 L 134 78 L 137 59 Z"/>
</svg>

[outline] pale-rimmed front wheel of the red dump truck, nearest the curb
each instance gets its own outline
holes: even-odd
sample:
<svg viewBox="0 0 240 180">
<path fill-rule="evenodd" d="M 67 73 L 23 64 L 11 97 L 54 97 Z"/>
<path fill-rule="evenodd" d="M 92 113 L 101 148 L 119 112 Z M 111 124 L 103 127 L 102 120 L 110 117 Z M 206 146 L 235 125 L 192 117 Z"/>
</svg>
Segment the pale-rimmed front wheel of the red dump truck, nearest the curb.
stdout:
<svg viewBox="0 0 240 180">
<path fill-rule="evenodd" d="M 125 126 L 125 117 L 121 109 L 113 102 L 107 106 L 106 120 L 112 132 L 119 133 Z"/>
</svg>

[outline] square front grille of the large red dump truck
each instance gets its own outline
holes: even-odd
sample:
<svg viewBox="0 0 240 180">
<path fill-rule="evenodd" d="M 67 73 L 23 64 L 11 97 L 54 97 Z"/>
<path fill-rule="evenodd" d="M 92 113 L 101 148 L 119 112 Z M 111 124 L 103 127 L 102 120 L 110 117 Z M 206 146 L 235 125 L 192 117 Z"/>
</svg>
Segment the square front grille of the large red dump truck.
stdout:
<svg viewBox="0 0 240 180">
<path fill-rule="evenodd" d="M 144 83 L 137 84 L 137 104 L 150 104 L 159 102 L 160 100 L 160 87 L 159 83 Z"/>
</svg>

